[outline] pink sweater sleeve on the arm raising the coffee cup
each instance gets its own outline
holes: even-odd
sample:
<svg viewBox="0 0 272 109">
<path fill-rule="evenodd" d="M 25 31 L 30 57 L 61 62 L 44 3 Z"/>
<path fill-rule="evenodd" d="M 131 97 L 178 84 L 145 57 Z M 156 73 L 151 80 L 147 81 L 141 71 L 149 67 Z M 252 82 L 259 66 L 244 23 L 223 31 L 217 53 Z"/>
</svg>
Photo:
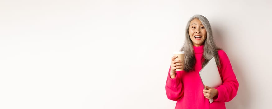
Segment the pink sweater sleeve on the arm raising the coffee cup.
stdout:
<svg viewBox="0 0 272 109">
<path fill-rule="evenodd" d="M 179 78 L 180 73 L 183 71 L 176 71 L 176 77 L 170 77 L 170 68 L 168 71 L 168 76 L 166 80 L 165 90 L 167 98 L 170 100 L 178 101 L 183 97 L 184 90 L 181 80 Z"/>
</svg>

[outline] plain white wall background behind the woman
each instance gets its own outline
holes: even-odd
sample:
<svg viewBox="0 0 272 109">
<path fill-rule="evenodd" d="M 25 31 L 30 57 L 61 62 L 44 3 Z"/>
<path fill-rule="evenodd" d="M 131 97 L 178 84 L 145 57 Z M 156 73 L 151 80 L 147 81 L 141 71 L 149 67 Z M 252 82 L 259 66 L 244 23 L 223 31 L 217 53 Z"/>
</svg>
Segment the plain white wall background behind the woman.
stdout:
<svg viewBox="0 0 272 109">
<path fill-rule="evenodd" d="M 173 109 L 189 18 L 208 18 L 239 81 L 229 109 L 271 106 L 269 0 L 1 0 L 1 109 Z"/>
</svg>

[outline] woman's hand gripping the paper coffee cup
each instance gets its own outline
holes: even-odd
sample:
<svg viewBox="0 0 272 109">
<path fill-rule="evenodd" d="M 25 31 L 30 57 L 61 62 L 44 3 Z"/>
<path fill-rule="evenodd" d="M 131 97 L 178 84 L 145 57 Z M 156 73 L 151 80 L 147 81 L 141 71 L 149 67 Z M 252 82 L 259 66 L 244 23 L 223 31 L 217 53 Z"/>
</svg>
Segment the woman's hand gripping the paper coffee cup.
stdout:
<svg viewBox="0 0 272 109">
<path fill-rule="evenodd" d="M 176 77 L 176 69 L 181 69 L 183 67 L 181 60 L 175 60 L 177 56 L 172 57 L 171 68 L 170 68 L 170 77 Z"/>
</svg>

